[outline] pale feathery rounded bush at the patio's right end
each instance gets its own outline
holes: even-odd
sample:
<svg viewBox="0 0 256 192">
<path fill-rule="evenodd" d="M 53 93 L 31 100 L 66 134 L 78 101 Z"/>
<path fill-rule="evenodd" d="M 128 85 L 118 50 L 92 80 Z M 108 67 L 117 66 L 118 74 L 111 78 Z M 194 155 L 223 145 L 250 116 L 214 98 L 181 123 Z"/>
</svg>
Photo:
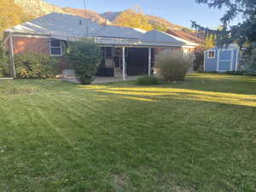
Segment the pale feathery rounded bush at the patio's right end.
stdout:
<svg viewBox="0 0 256 192">
<path fill-rule="evenodd" d="M 192 55 L 183 55 L 181 51 L 173 51 L 170 55 L 158 55 L 155 67 L 157 74 L 165 82 L 181 81 L 192 67 L 192 63 Z"/>
</svg>

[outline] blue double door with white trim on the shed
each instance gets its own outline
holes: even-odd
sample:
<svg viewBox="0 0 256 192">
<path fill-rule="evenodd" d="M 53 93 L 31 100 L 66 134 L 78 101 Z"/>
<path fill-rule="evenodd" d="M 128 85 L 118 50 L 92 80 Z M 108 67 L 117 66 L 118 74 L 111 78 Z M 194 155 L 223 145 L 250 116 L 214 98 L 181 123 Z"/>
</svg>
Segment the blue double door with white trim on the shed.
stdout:
<svg viewBox="0 0 256 192">
<path fill-rule="evenodd" d="M 233 55 L 233 50 L 219 50 L 218 71 L 232 71 Z"/>
</svg>

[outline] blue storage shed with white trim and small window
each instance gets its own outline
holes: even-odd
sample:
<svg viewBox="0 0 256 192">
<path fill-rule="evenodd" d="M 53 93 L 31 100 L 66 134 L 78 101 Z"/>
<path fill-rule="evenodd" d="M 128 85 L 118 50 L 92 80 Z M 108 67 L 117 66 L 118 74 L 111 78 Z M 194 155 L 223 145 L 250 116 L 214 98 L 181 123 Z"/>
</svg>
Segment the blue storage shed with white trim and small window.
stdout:
<svg viewBox="0 0 256 192">
<path fill-rule="evenodd" d="M 237 44 L 228 47 L 213 47 L 205 51 L 205 72 L 238 71 L 240 49 Z"/>
</svg>

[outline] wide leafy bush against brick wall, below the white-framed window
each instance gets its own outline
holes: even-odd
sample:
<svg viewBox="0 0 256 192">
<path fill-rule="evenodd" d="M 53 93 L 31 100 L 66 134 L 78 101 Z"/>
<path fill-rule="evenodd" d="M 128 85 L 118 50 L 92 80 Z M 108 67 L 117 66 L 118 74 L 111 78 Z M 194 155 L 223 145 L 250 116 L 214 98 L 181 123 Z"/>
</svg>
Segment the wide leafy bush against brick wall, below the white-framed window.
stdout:
<svg viewBox="0 0 256 192">
<path fill-rule="evenodd" d="M 45 79 L 55 78 L 58 61 L 50 55 L 20 54 L 15 55 L 17 78 Z"/>
</svg>

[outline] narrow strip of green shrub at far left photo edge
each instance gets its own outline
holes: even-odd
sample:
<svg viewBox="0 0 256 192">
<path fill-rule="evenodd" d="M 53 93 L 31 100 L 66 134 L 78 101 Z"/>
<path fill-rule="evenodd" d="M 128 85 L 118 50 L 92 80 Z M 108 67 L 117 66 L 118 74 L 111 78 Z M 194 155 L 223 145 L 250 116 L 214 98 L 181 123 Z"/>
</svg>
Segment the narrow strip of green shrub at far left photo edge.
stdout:
<svg viewBox="0 0 256 192">
<path fill-rule="evenodd" d="M 0 41 L 0 78 L 9 76 L 9 57 Z"/>
</svg>

